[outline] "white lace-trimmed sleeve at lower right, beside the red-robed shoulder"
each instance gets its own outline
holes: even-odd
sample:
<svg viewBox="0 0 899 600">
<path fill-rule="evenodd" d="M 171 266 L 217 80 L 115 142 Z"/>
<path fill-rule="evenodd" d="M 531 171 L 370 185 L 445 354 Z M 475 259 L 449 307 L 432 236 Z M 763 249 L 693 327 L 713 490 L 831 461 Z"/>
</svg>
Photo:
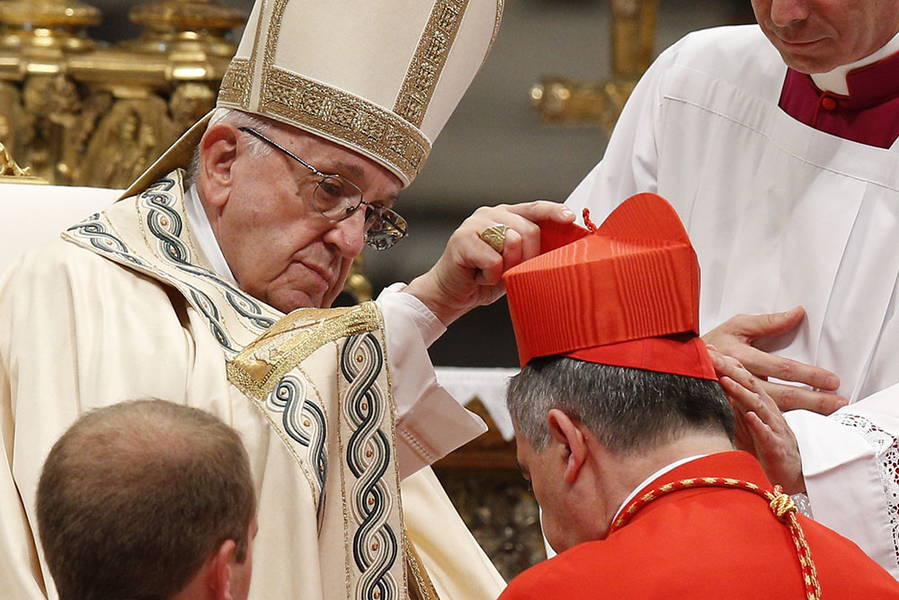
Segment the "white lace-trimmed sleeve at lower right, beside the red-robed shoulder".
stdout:
<svg viewBox="0 0 899 600">
<path fill-rule="evenodd" d="M 899 578 L 899 386 L 831 416 L 786 414 L 814 519 Z"/>
</svg>

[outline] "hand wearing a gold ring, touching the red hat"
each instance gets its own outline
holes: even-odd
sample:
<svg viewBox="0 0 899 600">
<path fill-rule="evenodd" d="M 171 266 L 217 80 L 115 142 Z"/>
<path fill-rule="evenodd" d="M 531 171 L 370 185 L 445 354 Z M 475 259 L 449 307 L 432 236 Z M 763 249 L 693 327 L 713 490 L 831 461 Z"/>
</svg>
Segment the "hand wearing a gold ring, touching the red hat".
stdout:
<svg viewBox="0 0 899 600">
<path fill-rule="evenodd" d="M 409 283 L 405 291 L 422 300 L 444 325 L 467 311 L 499 299 L 505 288 L 503 273 L 540 253 L 541 221 L 571 223 L 574 212 L 564 204 L 533 201 L 482 207 L 465 219 L 449 237 L 437 264 Z M 480 234 L 486 228 L 508 227 L 502 254 Z"/>
</svg>

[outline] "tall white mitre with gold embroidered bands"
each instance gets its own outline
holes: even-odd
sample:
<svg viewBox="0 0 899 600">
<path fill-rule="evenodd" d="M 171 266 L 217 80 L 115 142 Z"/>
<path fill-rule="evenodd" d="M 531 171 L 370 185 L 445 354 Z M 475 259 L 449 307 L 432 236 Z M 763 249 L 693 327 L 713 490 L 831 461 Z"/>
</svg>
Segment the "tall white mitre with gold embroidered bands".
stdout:
<svg viewBox="0 0 899 600">
<path fill-rule="evenodd" d="M 256 0 L 219 108 L 330 139 L 411 184 L 496 38 L 503 0 Z M 209 115 L 126 195 L 187 166 Z"/>
</svg>

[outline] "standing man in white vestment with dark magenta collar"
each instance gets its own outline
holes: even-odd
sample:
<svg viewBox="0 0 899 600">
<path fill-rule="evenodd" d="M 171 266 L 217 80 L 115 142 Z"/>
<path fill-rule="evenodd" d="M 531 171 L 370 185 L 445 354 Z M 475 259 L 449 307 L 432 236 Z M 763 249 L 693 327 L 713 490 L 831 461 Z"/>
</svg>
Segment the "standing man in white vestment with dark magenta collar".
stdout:
<svg viewBox="0 0 899 600">
<path fill-rule="evenodd" d="M 899 2 L 752 5 L 758 26 L 663 52 L 567 204 L 598 221 L 634 193 L 672 202 L 705 339 L 798 384 L 766 384 L 808 409 L 788 415 L 789 491 L 899 577 L 899 392 L 871 397 L 899 381 Z"/>
</svg>

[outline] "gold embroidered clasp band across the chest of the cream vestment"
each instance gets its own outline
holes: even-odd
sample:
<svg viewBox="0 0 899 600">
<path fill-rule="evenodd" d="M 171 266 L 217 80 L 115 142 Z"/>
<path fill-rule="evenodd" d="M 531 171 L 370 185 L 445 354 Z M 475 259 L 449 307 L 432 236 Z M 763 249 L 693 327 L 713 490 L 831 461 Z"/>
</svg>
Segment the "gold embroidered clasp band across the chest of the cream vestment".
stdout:
<svg viewBox="0 0 899 600">
<path fill-rule="evenodd" d="M 247 396 L 264 400 L 280 378 L 318 348 L 378 328 L 378 309 L 366 302 L 347 309 L 300 309 L 272 325 L 227 363 L 227 377 Z"/>
</svg>

